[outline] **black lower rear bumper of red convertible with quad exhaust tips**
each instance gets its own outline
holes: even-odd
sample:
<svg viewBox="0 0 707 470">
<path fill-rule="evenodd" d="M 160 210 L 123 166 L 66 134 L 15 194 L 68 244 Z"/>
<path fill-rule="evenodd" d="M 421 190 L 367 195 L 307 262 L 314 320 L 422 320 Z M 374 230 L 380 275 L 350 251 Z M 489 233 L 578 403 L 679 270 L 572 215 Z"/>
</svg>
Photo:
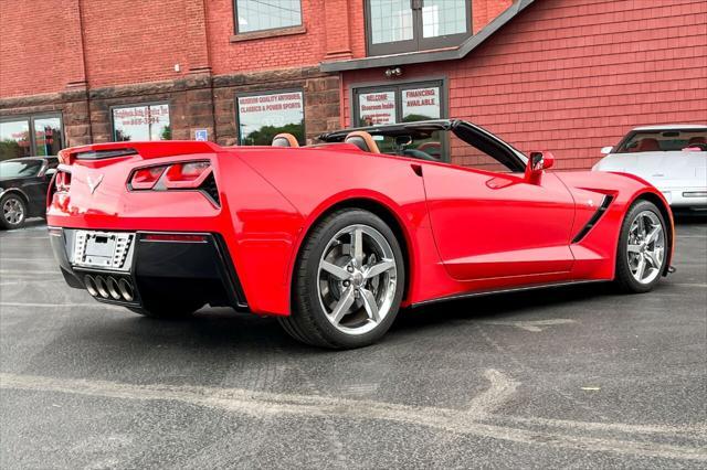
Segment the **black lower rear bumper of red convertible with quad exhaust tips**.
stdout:
<svg viewBox="0 0 707 470">
<path fill-rule="evenodd" d="M 126 270 L 83 267 L 74 263 L 76 229 L 50 227 L 50 239 L 66 284 L 87 289 L 98 301 L 131 308 L 145 308 L 146 303 L 188 296 L 211 306 L 229 306 L 247 310 L 247 301 L 240 279 L 231 261 L 228 247 L 218 234 L 194 234 L 197 239 L 149 239 L 155 232 L 134 232 L 135 244 L 130 250 Z M 183 235 L 183 233 L 159 235 Z M 99 280 L 98 280 L 99 279 Z M 96 289 L 95 285 L 115 282 L 131 287 L 133 295 L 123 289 Z M 92 288 L 93 287 L 93 288 Z M 117 293 L 115 292 L 117 290 Z"/>
</svg>

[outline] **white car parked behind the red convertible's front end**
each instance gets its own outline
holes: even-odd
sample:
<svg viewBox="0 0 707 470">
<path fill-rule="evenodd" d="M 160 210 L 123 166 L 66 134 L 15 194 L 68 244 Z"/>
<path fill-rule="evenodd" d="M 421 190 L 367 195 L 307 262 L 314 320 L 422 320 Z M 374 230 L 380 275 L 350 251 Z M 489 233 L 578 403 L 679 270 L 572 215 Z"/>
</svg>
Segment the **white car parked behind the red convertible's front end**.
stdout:
<svg viewBox="0 0 707 470">
<path fill-rule="evenodd" d="M 707 211 L 707 126 L 645 126 L 604 147 L 593 171 L 631 173 L 665 194 L 674 210 Z"/>
</svg>

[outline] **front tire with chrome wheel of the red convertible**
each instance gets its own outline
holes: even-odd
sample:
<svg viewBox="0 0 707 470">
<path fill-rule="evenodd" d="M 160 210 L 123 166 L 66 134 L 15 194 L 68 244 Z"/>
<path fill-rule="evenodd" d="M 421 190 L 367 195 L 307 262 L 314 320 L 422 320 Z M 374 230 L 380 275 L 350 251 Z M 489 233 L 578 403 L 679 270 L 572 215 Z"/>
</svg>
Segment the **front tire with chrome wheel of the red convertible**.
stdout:
<svg viewBox="0 0 707 470">
<path fill-rule="evenodd" d="M 656 205 L 635 202 L 619 235 L 615 285 L 631 293 L 653 290 L 665 271 L 668 242 L 665 218 Z"/>
</svg>

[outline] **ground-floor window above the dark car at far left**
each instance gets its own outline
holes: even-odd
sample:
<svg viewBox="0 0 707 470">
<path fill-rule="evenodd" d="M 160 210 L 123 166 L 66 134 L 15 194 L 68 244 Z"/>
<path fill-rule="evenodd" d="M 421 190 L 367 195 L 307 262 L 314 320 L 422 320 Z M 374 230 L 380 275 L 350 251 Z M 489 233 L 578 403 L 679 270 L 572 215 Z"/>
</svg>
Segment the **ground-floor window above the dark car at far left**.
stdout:
<svg viewBox="0 0 707 470">
<path fill-rule="evenodd" d="M 64 147 L 61 115 L 23 116 L 0 121 L 0 160 L 55 156 Z"/>
</svg>

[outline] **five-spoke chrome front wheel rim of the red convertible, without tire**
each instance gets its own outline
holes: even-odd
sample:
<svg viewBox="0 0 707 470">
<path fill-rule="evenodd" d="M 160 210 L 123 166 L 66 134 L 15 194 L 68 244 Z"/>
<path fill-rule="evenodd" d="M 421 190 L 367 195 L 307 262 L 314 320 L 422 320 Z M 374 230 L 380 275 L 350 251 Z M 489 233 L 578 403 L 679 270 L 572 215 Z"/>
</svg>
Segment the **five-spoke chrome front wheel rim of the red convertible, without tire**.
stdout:
<svg viewBox="0 0 707 470">
<path fill-rule="evenodd" d="M 651 284 L 661 275 L 665 257 L 665 231 L 654 212 L 640 212 L 631 222 L 626 252 L 629 269 L 635 280 Z"/>
</svg>

